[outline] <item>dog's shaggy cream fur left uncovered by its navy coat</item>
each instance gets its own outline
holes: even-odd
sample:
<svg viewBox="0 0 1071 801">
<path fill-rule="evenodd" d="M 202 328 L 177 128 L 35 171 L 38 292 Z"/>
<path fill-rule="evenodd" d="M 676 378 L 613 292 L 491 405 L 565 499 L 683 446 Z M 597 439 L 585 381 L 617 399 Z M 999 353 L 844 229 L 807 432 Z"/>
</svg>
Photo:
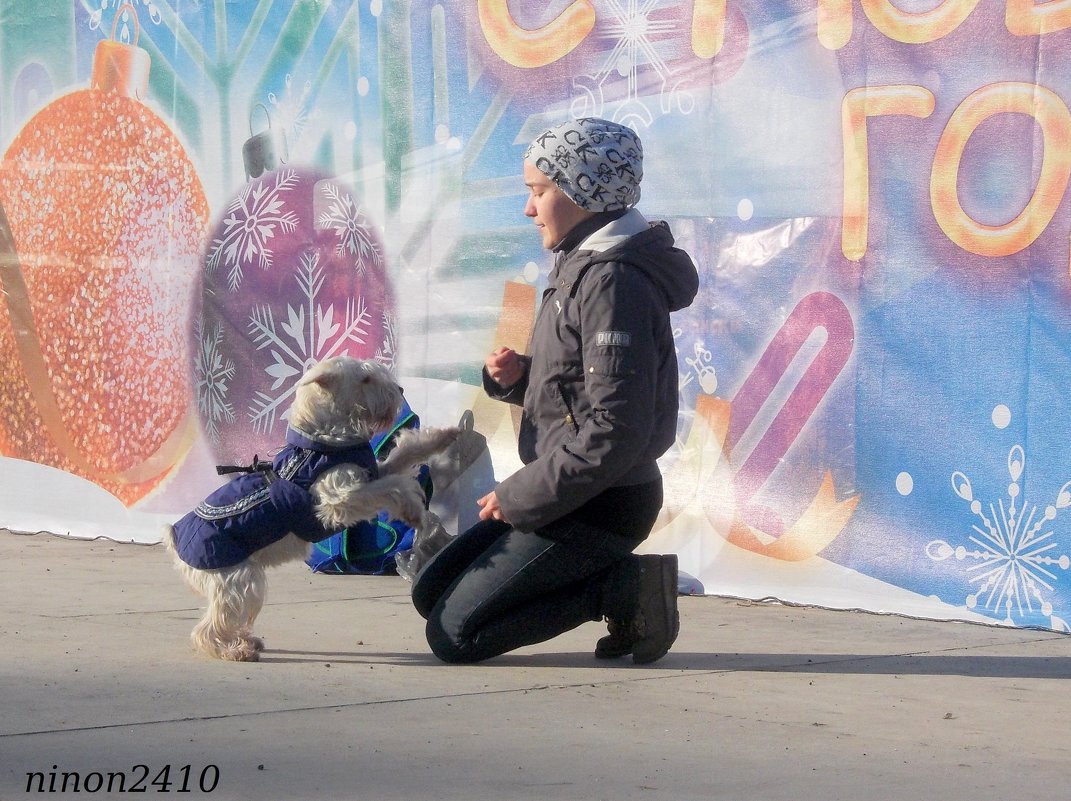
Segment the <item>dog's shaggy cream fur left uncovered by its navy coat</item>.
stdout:
<svg viewBox="0 0 1071 801">
<path fill-rule="evenodd" d="M 289 424 L 317 442 L 350 442 L 389 428 L 401 406 L 402 390 L 386 367 L 336 357 L 314 365 L 298 382 Z M 317 517 L 328 530 L 341 530 L 386 511 L 420 530 L 425 517 L 424 493 L 413 478 L 413 468 L 449 448 L 459 433 L 453 427 L 403 432 L 379 463 L 375 481 L 369 482 L 357 466 L 340 465 L 325 471 L 311 487 Z M 208 601 L 191 634 L 194 647 L 224 660 L 259 659 L 263 641 L 253 635 L 253 622 L 267 594 L 266 570 L 305 560 L 312 545 L 289 533 L 231 568 L 198 570 L 179 558 L 172 527 L 166 527 L 163 540 L 186 584 Z"/>
</svg>

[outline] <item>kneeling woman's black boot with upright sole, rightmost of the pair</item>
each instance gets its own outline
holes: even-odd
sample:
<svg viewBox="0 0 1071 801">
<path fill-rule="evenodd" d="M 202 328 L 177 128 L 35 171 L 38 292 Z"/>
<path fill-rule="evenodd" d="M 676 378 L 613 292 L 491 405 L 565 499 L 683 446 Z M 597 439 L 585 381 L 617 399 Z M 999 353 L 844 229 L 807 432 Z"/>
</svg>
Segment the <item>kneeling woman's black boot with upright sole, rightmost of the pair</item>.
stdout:
<svg viewBox="0 0 1071 801">
<path fill-rule="evenodd" d="M 639 557 L 637 603 L 627 632 L 635 637 L 631 643 L 632 661 L 646 665 L 665 656 L 680 631 L 676 554 Z"/>
</svg>

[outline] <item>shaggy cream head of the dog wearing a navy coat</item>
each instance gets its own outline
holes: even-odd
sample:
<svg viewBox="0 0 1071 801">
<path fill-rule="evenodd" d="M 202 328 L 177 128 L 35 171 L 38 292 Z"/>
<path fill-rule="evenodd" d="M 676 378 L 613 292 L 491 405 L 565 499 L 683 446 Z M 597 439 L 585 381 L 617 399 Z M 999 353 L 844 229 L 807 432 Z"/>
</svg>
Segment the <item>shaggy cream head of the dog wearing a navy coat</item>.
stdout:
<svg viewBox="0 0 1071 801">
<path fill-rule="evenodd" d="M 368 438 L 394 423 L 402 388 L 379 362 L 334 357 L 308 368 L 295 389 L 290 425 L 323 441 Z"/>
</svg>

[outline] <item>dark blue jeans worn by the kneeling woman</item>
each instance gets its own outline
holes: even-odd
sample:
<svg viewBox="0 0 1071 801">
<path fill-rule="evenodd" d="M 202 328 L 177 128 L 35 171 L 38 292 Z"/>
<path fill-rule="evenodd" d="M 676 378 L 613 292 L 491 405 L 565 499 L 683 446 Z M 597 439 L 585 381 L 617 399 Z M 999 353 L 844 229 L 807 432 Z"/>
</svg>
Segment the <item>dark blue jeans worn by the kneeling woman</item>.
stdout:
<svg viewBox="0 0 1071 801">
<path fill-rule="evenodd" d="M 650 533 L 662 484 L 615 498 L 613 530 L 590 508 L 536 532 L 478 523 L 417 576 L 412 600 L 444 662 L 479 662 L 603 616 L 628 620 L 638 592 L 632 550 Z"/>
</svg>

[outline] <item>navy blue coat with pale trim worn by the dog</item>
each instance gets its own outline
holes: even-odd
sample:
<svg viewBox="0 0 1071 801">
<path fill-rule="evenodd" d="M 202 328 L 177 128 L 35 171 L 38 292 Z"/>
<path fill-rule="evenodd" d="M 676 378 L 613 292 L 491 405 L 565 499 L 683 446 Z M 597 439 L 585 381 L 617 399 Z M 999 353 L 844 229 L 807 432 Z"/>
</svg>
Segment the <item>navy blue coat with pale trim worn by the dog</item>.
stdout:
<svg viewBox="0 0 1071 801">
<path fill-rule="evenodd" d="M 337 465 L 357 465 L 379 477 L 367 440 L 331 447 L 286 429 L 286 447 L 272 459 L 277 475 L 242 475 L 212 493 L 175 524 L 175 549 L 198 570 L 230 568 L 288 533 L 318 542 L 335 533 L 313 511 L 313 482 Z"/>
</svg>

